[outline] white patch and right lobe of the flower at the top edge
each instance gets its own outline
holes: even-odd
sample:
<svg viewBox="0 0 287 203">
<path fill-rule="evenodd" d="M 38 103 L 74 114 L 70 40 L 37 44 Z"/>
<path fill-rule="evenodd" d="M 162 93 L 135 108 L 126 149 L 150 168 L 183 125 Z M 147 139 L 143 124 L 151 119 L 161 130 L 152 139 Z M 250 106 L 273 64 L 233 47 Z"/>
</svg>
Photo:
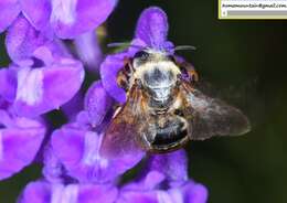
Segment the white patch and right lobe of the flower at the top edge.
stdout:
<svg viewBox="0 0 287 203">
<path fill-rule="evenodd" d="M 50 21 L 59 38 L 73 39 L 102 24 L 116 3 L 117 0 L 54 0 Z"/>
</svg>

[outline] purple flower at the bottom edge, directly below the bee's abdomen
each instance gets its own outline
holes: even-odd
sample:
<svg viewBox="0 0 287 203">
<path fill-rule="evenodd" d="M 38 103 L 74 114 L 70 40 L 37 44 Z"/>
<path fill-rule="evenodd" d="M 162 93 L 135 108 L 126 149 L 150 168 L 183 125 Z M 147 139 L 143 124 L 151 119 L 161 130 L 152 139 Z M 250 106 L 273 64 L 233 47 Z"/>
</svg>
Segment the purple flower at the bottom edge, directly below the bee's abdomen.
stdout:
<svg viewBox="0 0 287 203">
<path fill-rule="evenodd" d="M 152 156 L 144 175 L 120 189 L 118 203 L 205 203 L 208 190 L 188 180 L 183 150 Z"/>
</svg>

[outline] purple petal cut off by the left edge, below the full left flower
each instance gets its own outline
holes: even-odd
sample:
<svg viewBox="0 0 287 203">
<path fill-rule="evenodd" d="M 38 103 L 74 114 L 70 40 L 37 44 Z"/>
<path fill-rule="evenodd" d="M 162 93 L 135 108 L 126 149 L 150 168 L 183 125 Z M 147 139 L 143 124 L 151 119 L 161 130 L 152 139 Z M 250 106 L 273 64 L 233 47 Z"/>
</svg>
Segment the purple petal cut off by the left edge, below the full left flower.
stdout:
<svg viewBox="0 0 287 203">
<path fill-rule="evenodd" d="M 44 126 L 23 117 L 12 118 L 0 110 L 0 180 L 30 164 L 45 135 Z"/>
</svg>

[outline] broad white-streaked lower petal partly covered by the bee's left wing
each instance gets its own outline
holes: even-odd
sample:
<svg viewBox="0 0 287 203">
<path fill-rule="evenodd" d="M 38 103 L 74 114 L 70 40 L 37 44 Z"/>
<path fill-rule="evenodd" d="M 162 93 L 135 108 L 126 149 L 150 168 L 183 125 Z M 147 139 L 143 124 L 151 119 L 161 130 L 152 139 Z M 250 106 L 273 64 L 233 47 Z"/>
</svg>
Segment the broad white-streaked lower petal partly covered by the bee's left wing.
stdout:
<svg viewBox="0 0 287 203">
<path fill-rule="evenodd" d="M 108 160 L 99 154 L 103 135 L 81 130 L 75 127 L 63 127 L 53 132 L 52 148 L 55 156 L 65 167 L 67 174 L 81 182 L 103 183 L 132 168 L 141 156 L 120 160 Z M 73 153 L 71 153 L 73 152 Z"/>
</svg>

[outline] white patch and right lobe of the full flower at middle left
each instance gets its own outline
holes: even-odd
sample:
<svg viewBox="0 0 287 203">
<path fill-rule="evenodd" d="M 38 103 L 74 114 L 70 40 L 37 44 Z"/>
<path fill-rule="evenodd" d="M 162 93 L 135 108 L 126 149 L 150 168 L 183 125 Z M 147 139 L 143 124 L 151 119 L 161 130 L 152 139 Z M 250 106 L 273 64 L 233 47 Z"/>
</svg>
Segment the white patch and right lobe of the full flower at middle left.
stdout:
<svg viewBox="0 0 287 203">
<path fill-rule="evenodd" d="M 20 68 L 14 108 L 28 117 L 59 108 L 77 93 L 83 79 L 82 64 L 70 58 L 51 67 Z"/>
</svg>

